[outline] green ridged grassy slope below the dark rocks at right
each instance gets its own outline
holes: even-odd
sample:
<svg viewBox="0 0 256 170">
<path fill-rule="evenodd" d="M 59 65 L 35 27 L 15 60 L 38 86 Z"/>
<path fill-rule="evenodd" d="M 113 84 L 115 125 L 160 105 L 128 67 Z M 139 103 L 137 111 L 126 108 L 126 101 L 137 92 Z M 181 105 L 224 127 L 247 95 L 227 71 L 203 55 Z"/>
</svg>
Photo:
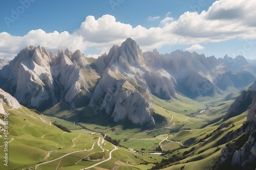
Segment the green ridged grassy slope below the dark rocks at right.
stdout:
<svg viewBox="0 0 256 170">
<path fill-rule="evenodd" d="M 212 165 L 214 165 L 219 157 L 221 149 L 224 148 L 227 143 L 223 140 L 226 138 L 226 134 L 242 127 L 243 122 L 246 120 L 247 113 L 248 111 L 226 121 L 220 120 L 203 129 L 180 131 L 170 136 L 170 140 L 182 141 L 183 144 L 189 145 L 189 148 L 174 151 L 172 155 L 178 155 L 181 160 L 178 162 L 178 165 L 175 165 L 175 163 L 169 164 L 167 165 L 169 167 L 166 166 L 165 169 L 181 169 L 184 165 L 184 169 L 211 169 Z M 222 129 L 213 133 L 218 127 L 222 127 Z M 236 140 L 237 138 L 232 140 Z M 187 154 L 186 157 L 183 157 L 183 153 L 193 147 L 195 147 L 195 150 Z M 168 156 L 170 157 L 172 155 Z"/>
</svg>

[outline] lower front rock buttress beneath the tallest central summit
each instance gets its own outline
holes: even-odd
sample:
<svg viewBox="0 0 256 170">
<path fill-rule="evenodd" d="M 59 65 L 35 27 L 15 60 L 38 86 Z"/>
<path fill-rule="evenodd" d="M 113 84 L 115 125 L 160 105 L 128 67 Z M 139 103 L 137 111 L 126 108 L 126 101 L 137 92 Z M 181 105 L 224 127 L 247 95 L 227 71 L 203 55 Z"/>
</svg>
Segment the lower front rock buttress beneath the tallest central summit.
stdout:
<svg viewBox="0 0 256 170">
<path fill-rule="evenodd" d="M 100 105 L 100 111 L 111 115 L 115 122 L 127 117 L 134 124 L 154 125 L 154 119 L 150 116 L 153 106 L 150 91 L 134 87 L 135 82 L 118 74 L 118 70 L 118 67 L 112 66 L 104 71 L 89 106 Z"/>
</svg>

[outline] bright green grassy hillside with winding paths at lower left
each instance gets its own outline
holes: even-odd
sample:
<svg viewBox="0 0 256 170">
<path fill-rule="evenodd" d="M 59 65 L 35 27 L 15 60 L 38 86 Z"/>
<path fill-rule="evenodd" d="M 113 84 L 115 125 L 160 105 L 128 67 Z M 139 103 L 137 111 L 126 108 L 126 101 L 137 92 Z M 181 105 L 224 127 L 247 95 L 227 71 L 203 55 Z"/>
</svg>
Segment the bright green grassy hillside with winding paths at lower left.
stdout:
<svg viewBox="0 0 256 170">
<path fill-rule="evenodd" d="M 91 149 L 94 142 L 98 141 L 100 134 L 91 135 L 91 131 L 84 129 L 74 130 L 73 133 L 66 133 L 51 124 L 51 121 L 44 115 L 39 115 L 33 110 L 22 107 L 22 109 L 14 110 L 8 106 L 4 106 L 9 113 L 9 166 L 8 168 L 0 165 L 0 169 L 27 169 L 35 167 L 40 162 L 46 162 L 59 158 L 67 153 Z M 1 118 L 2 119 L 2 118 Z M 58 123 L 70 125 L 65 120 L 51 118 Z M 70 125 L 70 129 L 73 129 Z M 0 132 L 3 135 L 3 132 Z M 72 141 L 73 140 L 73 141 Z M 157 139 L 156 139 L 157 140 Z M 75 145 L 74 145 L 74 143 Z M 0 139 L 3 143 L 3 138 Z M 3 146 L 2 146 L 3 147 Z M 2 148 L 0 147 L 0 148 Z M 113 150 L 113 146 L 109 142 L 104 142 L 104 149 Z M 81 161 L 82 158 L 91 153 L 98 153 L 102 150 L 95 144 L 95 148 L 91 151 L 82 151 L 65 156 L 61 159 L 39 165 L 37 169 L 80 169 L 97 163 L 97 161 Z M 1 149 L 0 154 L 3 156 L 4 151 Z M 49 154 L 49 157 L 48 157 Z M 0 161 L 3 162 L 1 156 Z M 127 149 L 118 148 L 113 152 L 112 159 L 99 164 L 98 167 L 113 168 L 118 164 L 123 164 L 123 167 L 132 166 L 137 169 L 147 169 L 152 166 L 140 165 L 145 162 L 154 163 L 159 161 L 161 156 L 143 156 Z M 127 159 L 129 162 L 127 162 Z M 75 165 L 76 163 L 76 165 Z M 92 168 L 94 169 L 94 168 Z"/>
</svg>

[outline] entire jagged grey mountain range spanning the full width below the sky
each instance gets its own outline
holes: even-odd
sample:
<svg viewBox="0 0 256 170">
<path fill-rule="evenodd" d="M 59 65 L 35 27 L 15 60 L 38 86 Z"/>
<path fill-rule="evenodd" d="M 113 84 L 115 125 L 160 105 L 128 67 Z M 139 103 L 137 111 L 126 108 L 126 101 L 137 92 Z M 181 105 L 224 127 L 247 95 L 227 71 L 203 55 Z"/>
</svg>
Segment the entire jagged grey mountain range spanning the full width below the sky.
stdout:
<svg viewBox="0 0 256 170">
<path fill-rule="evenodd" d="M 114 122 L 128 119 L 154 126 L 152 94 L 163 100 L 176 98 L 177 93 L 191 99 L 212 96 L 252 83 L 254 68 L 242 56 L 216 59 L 179 50 L 142 53 L 127 38 L 98 59 L 79 50 L 59 50 L 55 55 L 41 46 L 26 47 L 0 70 L 0 87 L 29 108 L 45 111 L 64 103 L 78 109 L 77 115 L 62 115 L 72 120 L 86 117 L 90 107 L 91 116 L 106 114 Z"/>
</svg>

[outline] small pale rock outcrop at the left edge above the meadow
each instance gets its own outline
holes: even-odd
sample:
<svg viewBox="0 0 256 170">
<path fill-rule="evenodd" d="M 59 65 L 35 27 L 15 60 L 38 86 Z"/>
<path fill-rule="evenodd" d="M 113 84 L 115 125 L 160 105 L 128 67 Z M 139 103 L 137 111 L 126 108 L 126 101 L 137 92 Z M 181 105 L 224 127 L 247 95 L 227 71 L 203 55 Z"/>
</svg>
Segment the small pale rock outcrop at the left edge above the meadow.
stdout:
<svg viewBox="0 0 256 170">
<path fill-rule="evenodd" d="M 13 109 L 18 109 L 20 108 L 20 105 L 18 101 L 13 98 L 9 93 L 4 91 L 3 89 L 0 88 L 0 111 L 1 113 L 4 112 L 4 108 L 2 104 L 6 104 L 7 106 L 13 108 Z"/>
</svg>

